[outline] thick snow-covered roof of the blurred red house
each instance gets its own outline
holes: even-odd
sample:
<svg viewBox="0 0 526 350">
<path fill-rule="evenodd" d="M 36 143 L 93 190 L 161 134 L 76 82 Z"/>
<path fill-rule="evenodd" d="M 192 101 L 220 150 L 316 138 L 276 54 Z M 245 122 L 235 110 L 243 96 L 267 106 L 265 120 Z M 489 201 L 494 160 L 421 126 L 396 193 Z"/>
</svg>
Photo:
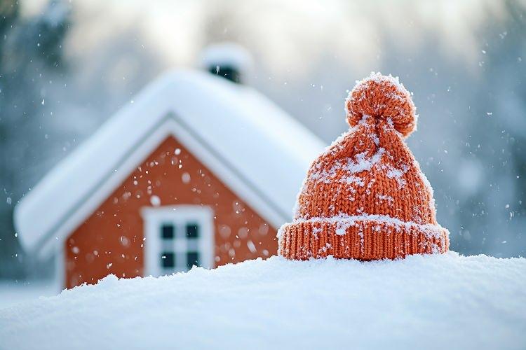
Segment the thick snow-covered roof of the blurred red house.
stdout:
<svg viewBox="0 0 526 350">
<path fill-rule="evenodd" d="M 148 155 L 134 155 L 139 144 L 151 144 L 146 149 L 153 151 L 159 140 L 151 135 L 160 129 L 183 144 L 192 141 L 203 163 L 276 228 L 290 219 L 306 170 L 324 148 L 250 87 L 201 71 L 172 71 L 109 118 L 22 198 L 14 218 L 23 246 L 52 251 L 52 242 L 67 237 Z"/>
</svg>

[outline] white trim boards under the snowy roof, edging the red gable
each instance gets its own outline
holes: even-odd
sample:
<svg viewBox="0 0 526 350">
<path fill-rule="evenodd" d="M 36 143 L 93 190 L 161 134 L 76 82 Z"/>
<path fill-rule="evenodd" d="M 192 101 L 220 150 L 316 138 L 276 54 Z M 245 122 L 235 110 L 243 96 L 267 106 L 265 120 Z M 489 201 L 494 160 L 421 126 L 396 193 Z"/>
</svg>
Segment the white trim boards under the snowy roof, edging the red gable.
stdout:
<svg viewBox="0 0 526 350">
<path fill-rule="evenodd" d="M 198 139 L 191 128 L 184 124 L 183 120 L 175 113 L 167 113 L 159 123 L 153 125 L 151 130 L 145 132 L 147 137 L 137 140 L 137 143 L 131 147 L 128 153 L 119 162 L 114 165 L 112 172 L 100 181 L 90 193 L 81 198 L 77 204 L 69 210 L 69 213 L 59 226 L 49 232 L 55 239 L 45 237 L 39 253 L 46 255 L 55 250 L 62 249 L 64 241 L 73 230 L 75 230 L 90 214 L 92 214 L 112 191 L 119 186 L 124 179 L 133 172 L 147 155 L 159 145 L 159 143 L 168 136 L 180 140 L 187 146 L 189 151 L 198 155 L 199 159 L 216 174 L 222 182 L 229 188 L 234 189 L 239 196 L 250 203 L 251 207 L 271 223 L 275 228 L 284 221 L 285 214 L 281 213 L 266 194 L 253 185 L 250 179 L 243 177 L 233 165 L 229 163 L 228 155 L 220 155 L 213 146 L 205 139 Z M 116 135 L 118 137 L 118 135 Z M 243 145 L 240 145 L 242 147 Z M 105 162 L 104 155 L 101 155 L 100 162 Z M 266 170 L 266 169 L 262 169 Z M 56 243 L 59 246 L 56 246 Z"/>
</svg>

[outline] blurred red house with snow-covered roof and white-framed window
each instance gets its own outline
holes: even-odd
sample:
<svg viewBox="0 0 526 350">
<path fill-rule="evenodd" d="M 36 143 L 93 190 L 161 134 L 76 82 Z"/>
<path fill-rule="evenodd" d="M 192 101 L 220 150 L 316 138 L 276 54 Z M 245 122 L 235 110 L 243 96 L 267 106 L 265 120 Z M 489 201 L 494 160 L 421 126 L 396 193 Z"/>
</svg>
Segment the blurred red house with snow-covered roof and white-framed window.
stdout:
<svg viewBox="0 0 526 350">
<path fill-rule="evenodd" d="M 255 90 L 175 71 L 30 190 L 15 225 L 67 288 L 264 258 L 322 149 Z"/>
</svg>

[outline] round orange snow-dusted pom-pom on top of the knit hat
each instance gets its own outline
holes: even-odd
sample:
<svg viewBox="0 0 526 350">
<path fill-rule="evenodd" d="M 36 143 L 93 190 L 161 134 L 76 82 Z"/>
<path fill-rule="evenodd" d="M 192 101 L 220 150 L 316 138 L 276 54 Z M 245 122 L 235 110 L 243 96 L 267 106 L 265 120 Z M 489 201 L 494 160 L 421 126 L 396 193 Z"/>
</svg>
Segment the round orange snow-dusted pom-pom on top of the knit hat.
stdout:
<svg viewBox="0 0 526 350">
<path fill-rule="evenodd" d="M 363 116 L 391 120 L 403 137 L 417 127 L 417 114 L 411 94 L 398 82 L 398 77 L 371 75 L 356 82 L 346 99 L 347 123 L 353 127 Z"/>
</svg>

